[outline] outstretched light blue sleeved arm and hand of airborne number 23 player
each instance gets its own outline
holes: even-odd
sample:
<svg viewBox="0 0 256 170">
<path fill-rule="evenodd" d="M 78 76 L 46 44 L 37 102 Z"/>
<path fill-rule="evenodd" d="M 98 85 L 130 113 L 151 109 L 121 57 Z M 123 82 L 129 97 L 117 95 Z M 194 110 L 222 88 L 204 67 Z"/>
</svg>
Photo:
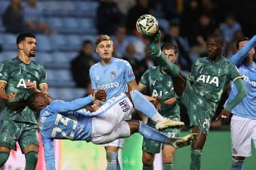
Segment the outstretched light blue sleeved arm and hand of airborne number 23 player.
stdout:
<svg viewBox="0 0 256 170">
<path fill-rule="evenodd" d="M 95 93 L 95 95 L 91 94 L 87 97 L 75 99 L 71 102 L 52 102 L 50 104 L 50 109 L 53 111 L 60 113 L 60 112 L 69 112 L 75 111 L 83 108 L 85 105 L 93 102 L 95 99 L 98 100 L 106 100 L 106 92 L 103 90 L 99 90 Z"/>
</svg>

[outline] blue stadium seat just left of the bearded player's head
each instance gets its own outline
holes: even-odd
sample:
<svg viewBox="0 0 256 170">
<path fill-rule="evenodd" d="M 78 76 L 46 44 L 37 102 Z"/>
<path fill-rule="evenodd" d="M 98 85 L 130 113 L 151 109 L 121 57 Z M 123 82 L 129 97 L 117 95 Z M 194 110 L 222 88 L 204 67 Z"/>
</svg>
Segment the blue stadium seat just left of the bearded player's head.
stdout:
<svg viewBox="0 0 256 170">
<path fill-rule="evenodd" d="M 16 35 L 14 34 L 3 34 L 3 50 L 13 51 L 17 50 Z"/>
</svg>

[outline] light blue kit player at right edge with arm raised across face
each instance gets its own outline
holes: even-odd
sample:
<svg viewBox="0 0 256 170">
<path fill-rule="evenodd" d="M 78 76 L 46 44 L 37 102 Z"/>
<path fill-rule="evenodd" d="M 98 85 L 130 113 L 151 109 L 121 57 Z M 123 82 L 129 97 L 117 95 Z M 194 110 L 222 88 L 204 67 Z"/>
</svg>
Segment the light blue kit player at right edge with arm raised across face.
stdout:
<svg viewBox="0 0 256 170">
<path fill-rule="evenodd" d="M 256 65 L 253 62 L 256 43 L 256 35 L 250 40 L 242 37 L 237 42 L 237 49 L 230 60 L 237 66 L 243 76 L 247 95 L 241 103 L 236 105 L 231 113 L 231 147 L 232 147 L 232 170 L 242 170 L 242 163 L 245 157 L 251 156 L 251 140 L 256 148 Z M 225 106 L 229 105 L 237 94 L 237 88 L 231 82 L 231 92 Z M 230 113 L 221 114 L 223 122 L 229 120 Z"/>
</svg>

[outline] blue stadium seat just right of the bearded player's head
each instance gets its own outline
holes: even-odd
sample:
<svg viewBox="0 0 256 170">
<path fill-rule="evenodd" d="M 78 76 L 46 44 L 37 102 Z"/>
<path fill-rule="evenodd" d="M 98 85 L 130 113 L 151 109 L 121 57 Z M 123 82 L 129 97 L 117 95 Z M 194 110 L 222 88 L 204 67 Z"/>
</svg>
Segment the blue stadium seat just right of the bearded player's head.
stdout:
<svg viewBox="0 0 256 170">
<path fill-rule="evenodd" d="M 53 50 L 52 45 L 50 43 L 50 38 L 47 35 L 36 35 L 37 38 L 37 50 L 50 52 Z"/>
</svg>

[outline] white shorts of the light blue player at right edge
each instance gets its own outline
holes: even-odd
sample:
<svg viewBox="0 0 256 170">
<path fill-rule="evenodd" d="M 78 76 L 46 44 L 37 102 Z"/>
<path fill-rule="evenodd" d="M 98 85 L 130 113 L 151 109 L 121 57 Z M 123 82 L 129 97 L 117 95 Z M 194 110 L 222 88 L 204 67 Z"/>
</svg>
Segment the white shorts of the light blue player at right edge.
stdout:
<svg viewBox="0 0 256 170">
<path fill-rule="evenodd" d="M 251 156 L 252 140 L 256 148 L 256 120 L 233 115 L 230 130 L 232 156 Z"/>
</svg>

